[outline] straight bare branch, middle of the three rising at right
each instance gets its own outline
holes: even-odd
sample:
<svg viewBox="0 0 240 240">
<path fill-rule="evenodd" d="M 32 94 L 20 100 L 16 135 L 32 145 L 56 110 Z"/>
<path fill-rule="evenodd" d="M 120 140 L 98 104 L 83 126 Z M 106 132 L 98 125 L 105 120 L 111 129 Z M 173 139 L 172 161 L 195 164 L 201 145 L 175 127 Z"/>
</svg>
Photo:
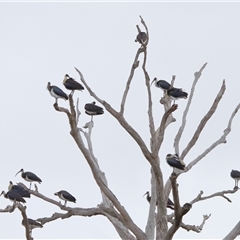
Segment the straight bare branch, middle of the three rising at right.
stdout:
<svg viewBox="0 0 240 240">
<path fill-rule="evenodd" d="M 220 102 L 220 100 L 222 99 L 222 96 L 225 92 L 226 86 L 225 86 L 225 80 L 223 80 L 222 83 L 222 87 L 217 95 L 217 97 L 215 98 L 211 108 L 209 109 L 209 111 L 207 112 L 207 114 L 203 117 L 203 119 L 201 120 L 201 122 L 199 123 L 196 132 L 194 133 L 192 139 L 190 140 L 190 142 L 188 143 L 187 147 L 183 150 L 180 158 L 184 159 L 184 157 L 187 155 L 187 153 L 190 151 L 190 149 L 195 145 L 195 143 L 197 142 L 204 126 L 206 125 L 206 123 L 208 122 L 208 120 L 212 117 L 212 115 L 214 114 L 214 112 L 216 111 L 218 104 Z"/>
</svg>

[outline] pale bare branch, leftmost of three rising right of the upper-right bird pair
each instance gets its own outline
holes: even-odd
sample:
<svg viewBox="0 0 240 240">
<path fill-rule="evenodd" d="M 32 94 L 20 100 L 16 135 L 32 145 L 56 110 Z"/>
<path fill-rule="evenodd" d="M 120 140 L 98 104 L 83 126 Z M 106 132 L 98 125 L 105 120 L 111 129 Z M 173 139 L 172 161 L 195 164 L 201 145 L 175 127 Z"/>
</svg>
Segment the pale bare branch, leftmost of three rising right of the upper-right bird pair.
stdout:
<svg viewBox="0 0 240 240">
<path fill-rule="evenodd" d="M 178 155 L 179 154 L 179 142 L 180 142 L 180 139 L 181 139 L 181 136 L 182 136 L 182 133 L 183 133 L 183 130 L 185 128 L 185 125 L 186 125 L 186 122 L 187 122 L 187 114 L 188 114 L 188 111 L 189 111 L 189 108 L 190 108 L 190 105 L 192 103 L 192 98 L 193 98 L 193 94 L 194 94 L 194 90 L 195 90 L 195 86 L 199 80 L 199 78 L 201 77 L 202 75 L 202 71 L 204 70 L 204 68 L 207 66 L 207 63 L 205 63 L 198 72 L 195 72 L 194 74 L 194 81 L 193 81 L 193 84 L 192 84 L 192 88 L 191 88 L 191 92 L 189 94 L 189 98 L 188 98 L 188 102 L 187 102 L 187 106 L 183 112 L 183 116 L 182 116 L 182 125 L 181 127 L 179 128 L 178 130 L 178 133 L 174 139 L 174 147 L 175 147 L 175 153 L 177 153 Z"/>
</svg>

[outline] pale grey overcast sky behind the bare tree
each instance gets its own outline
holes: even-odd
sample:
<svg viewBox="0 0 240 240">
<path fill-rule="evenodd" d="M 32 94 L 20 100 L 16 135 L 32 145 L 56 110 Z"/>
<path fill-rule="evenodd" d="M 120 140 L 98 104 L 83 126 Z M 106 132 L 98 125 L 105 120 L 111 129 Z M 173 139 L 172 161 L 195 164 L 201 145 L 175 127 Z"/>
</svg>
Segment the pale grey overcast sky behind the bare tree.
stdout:
<svg viewBox="0 0 240 240">
<path fill-rule="evenodd" d="M 86 160 L 69 134 L 68 120 L 53 108 L 54 99 L 46 90 L 47 82 L 62 85 L 66 73 L 79 79 L 74 67 L 82 71 L 92 90 L 117 110 L 135 53 L 136 25 L 142 28 L 141 15 L 149 28 L 147 70 L 153 79 L 171 79 L 175 86 L 190 92 L 194 72 L 208 62 L 196 87 L 187 127 L 180 143 L 182 151 L 203 115 L 218 93 L 223 79 L 227 89 L 197 145 L 184 159 L 189 163 L 216 141 L 239 103 L 240 3 L 0 3 L 0 190 L 8 182 L 22 180 L 17 171 L 24 168 L 42 179 L 39 191 L 53 199 L 65 189 L 74 195 L 75 207 L 94 207 L 101 202 Z M 142 28 L 143 29 L 143 28 Z M 142 63 L 142 56 L 140 57 Z M 156 123 L 163 114 L 160 89 L 152 86 Z M 85 90 L 80 98 L 80 126 L 90 120 L 83 110 L 93 98 Z M 165 181 L 172 169 L 165 156 L 172 153 L 173 139 L 181 124 L 187 101 L 178 101 L 177 121 L 166 130 L 160 150 Z M 59 100 L 61 106 L 68 102 Z M 149 146 L 147 98 L 141 68 L 136 70 L 129 97 L 126 119 Z M 183 205 L 200 190 L 209 195 L 230 190 L 232 169 L 240 170 L 240 114 L 236 115 L 227 144 L 218 146 L 189 173 L 179 177 Z M 142 195 L 150 189 L 150 165 L 139 147 L 110 114 L 94 118 L 94 153 L 109 187 L 132 219 L 143 230 L 147 223 L 148 203 Z M 26 183 L 26 182 L 24 182 Z M 28 184 L 28 183 L 27 183 Z M 172 196 L 170 195 L 172 198 Z M 212 214 L 201 233 L 180 229 L 176 238 L 222 239 L 240 220 L 239 192 L 195 204 L 184 217 L 186 224 L 199 225 L 203 214 Z M 1 197 L 0 208 L 10 201 Z M 28 217 L 50 217 L 61 212 L 56 206 L 32 196 L 27 200 Z M 170 211 L 169 211 L 170 213 Z M 1 238 L 24 238 L 21 214 L 0 214 Z M 72 217 L 44 225 L 33 231 L 34 238 L 118 238 L 104 217 Z"/>
</svg>

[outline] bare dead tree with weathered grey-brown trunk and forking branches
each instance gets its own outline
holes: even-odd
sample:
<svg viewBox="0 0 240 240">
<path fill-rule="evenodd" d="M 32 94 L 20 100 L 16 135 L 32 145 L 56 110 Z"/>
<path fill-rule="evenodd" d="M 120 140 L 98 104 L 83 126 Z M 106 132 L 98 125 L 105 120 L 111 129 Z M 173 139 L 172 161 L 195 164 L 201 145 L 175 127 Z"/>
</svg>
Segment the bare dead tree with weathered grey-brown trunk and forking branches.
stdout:
<svg viewBox="0 0 240 240">
<path fill-rule="evenodd" d="M 100 164 L 96 156 L 94 155 L 94 151 L 93 151 L 93 143 L 91 140 L 91 133 L 94 127 L 93 121 L 86 123 L 84 128 L 81 128 L 78 126 L 81 113 L 79 111 L 78 101 L 76 102 L 76 106 L 75 106 L 75 103 L 73 100 L 73 94 L 70 94 L 68 96 L 69 109 L 63 108 L 59 106 L 57 103 L 55 103 L 53 106 L 56 111 L 66 114 L 69 120 L 70 134 L 91 168 L 92 175 L 102 193 L 102 202 L 97 207 L 93 207 L 93 208 L 67 207 L 62 205 L 58 201 L 55 201 L 41 194 L 35 185 L 35 190 L 29 190 L 29 192 L 32 195 L 34 195 L 35 197 L 41 198 L 42 200 L 49 202 L 50 204 L 54 204 L 58 206 L 61 210 L 65 211 L 65 213 L 54 213 L 50 217 L 38 218 L 37 220 L 42 225 L 59 218 L 64 219 L 72 216 L 91 217 L 94 215 L 103 215 L 106 218 L 108 218 L 108 220 L 113 224 L 113 226 L 115 227 L 116 231 L 118 232 L 119 236 L 122 239 L 170 240 L 173 238 L 174 234 L 177 232 L 179 228 L 183 228 L 187 231 L 195 231 L 198 233 L 202 231 L 203 226 L 206 223 L 207 219 L 210 217 L 210 215 L 205 214 L 203 216 L 203 221 L 199 226 L 196 226 L 194 224 L 187 225 L 183 222 L 184 215 L 186 215 L 191 210 L 191 207 L 194 204 L 196 204 L 199 201 L 204 201 L 213 197 L 223 197 L 227 201 L 231 201 L 226 195 L 233 194 L 238 191 L 238 188 L 234 188 L 233 190 L 222 190 L 220 192 L 213 193 L 209 196 L 203 196 L 203 192 L 200 191 L 200 193 L 198 194 L 198 196 L 196 196 L 195 199 L 189 200 L 189 202 L 181 204 L 179 199 L 177 180 L 182 174 L 186 174 L 193 167 L 196 167 L 197 163 L 201 161 L 209 152 L 211 152 L 220 144 L 226 143 L 226 137 L 231 131 L 232 120 L 236 115 L 237 111 L 239 110 L 240 104 L 238 104 L 235 107 L 232 115 L 229 117 L 228 125 L 226 129 L 223 131 L 222 136 L 219 139 L 216 139 L 216 141 L 212 143 L 207 149 L 205 149 L 205 151 L 203 151 L 199 156 L 193 159 L 185 167 L 184 171 L 174 171 L 169 176 L 169 179 L 167 179 L 166 182 L 164 181 L 162 170 L 160 168 L 160 161 L 162 161 L 162 159 L 160 159 L 159 157 L 159 150 L 164 141 L 164 134 L 165 134 L 166 128 L 169 126 L 169 124 L 175 121 L 173 114 L 174 114 L 174 111 L 177 111 L 178 105 L 172 104 L 172 100 L 169 98 L 169 96 L 164 94 L 164 96 L 159 101 L 159 104 L 163 105 L 164 114 L 158 123 L 156 123 L 156 120 L 154 121 L 153 111 L 152 111 L 152 95 L 151 95 L 151 89 L 150 89 L 151 81 L 146 68 L 149 32 L 142 18 L 141 18 L 141 23 L 144 27 L 145 35 L 142 34 L 140 27 L 137 26 L 138 34 L 140 33 L 141 34 L 140 34 L 140 37 L 136 39 L 136 41 L 139 42 L 140 47 L 138 48 L 135 59 L 133 61 L 129 78 L 127 80 L 126 87 L 123 92 L 119 110 L 114 109 L 107 101 L 100 98 L 94 92 L 94 90 L 88 85 L 87 80 L 84 79 L 82 72 L 77 68 L 75 69 L 79 74 L 80 81 L 84 85 L 85 89 L 99 104 L 101 104 L 106 109 L 106 111 L 108 111 L 112 115 L 112 117 L 114 117 L 118 121 L 118 123 L 122 126 L 122 129 L 125 130 L 132 137 L 132 139 L 138 144 L 139 149 L 142 152 L 144 158 L 146 159 L 146 161 L 149 162 L 151 166 L 151 201 L 149 205 L 149 214 L 148 214 L 148 221 L 147 221 L 146 228 L 145 230 L 143 230 L 136 225 L 136 223 L 133 221 L 133 219 L 127 212 L 127 210 L 124 208 L 124 206 L 122 206 L 120 199 L 118 199 L 116 195 L 113 193 L 113 191 L 108 187 L 107 178 L 104 172 L 101 170 Z M 139 60 L 140 55 L 143 55 L 143 62 L 141 67 L 142 67 L 142 71 L 145 79 L 146 91 L 148 96 L 147 97 L 148 121 L 149 121 L 149 132 L 151 136 L 150 148 L 147 147 L 147 144 L 143 141 L 139 133 L 134 129 L 133 126 L 129 124 L 129 122 L 124 116 L 125 104 L 126 104 L 126 99 L 128 97 L 129 90 L 130 90 L 130 85 L 133 81 L 135 70 L 140 65 L 140 60 Z M 192 147 L 197 143 L 200 134 L 204 130 L 204 127 L 209 121 L 209 119 L 213 116 L 214 112 L 216 111 L 218 104 L 221 101 L 226 89 L 225 81 L 223 80 L 219 93 L 217 94 L 214 102 L 209 108 L 209 111 L 205 114 L 205 116 L 200 121 L 196 131 L 193 133 L 193 136 L 189 140 L 186 147 L 183 150 L 180 150 L 179 143 L 186 126 L 186 119 L 191 107 L 195 86 L 198 80 L 200 79 L 201 74 L 206 66 L 207 66 L 207 63 L 205 63 L 200 68 L 200 70 L 194 74 L 191 92 L 187 100 L 186 109 L 184 110 L 182 115 L 182 123 L 174 139 L 175 153 L 180 157 L 180 159 L 184 159 L 187 156 L 188 152 L 192 149 Z M 174 85 L 174 81 L 175 81 L 175 76 L 173 76 L 172 78 L 172 82 L 171 82 L 172 87 Z M 84 141 L 84 138 L 86 141 Z M 21 185 L 25 187 L 23 184 Z M 167 199 L 169 197 L 170 192 L 172 192 L 173 194 L 174 213 L 167 215 L 166 203 L 167 203 Z M 156 201 L 158 202 L 157 208 L 156 208 Z M 16 204 L 16 203 L 14 203 L 12 207 L 7 207 L 4 210 L 0 210 L 0 212 L 12 212 L 16 207 L 19 208 L 19 210 L 22 212 L 24 220 L 26 220 L 27 219 L 27 215 L 25 211 L 26 209 L 23 208 L 21 205 L 19 206 L 19 204 Z M 168 228 L 168 223 L 172 224 L 170 228 Z M 28 224 L 25 225 L 25 228 L 26 228 L 26 238 L 31 239 L 31 236 L 29 235 Z M 236 225 L 236 227 L 232 230 L 232 232 L 229 233 L 229 235 L 225 239 L 234 239 L 238 234 L 239 234 L 239 223 Z"/>
</svg>

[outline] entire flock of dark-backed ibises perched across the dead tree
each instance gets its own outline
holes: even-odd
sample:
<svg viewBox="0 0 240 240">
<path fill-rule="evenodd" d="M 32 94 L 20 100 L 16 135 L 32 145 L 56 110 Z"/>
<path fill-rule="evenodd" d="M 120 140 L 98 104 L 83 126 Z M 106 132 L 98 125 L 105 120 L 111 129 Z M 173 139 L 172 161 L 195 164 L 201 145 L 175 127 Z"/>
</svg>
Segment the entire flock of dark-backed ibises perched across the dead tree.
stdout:
<svg viewBox="0 0 240 240">
<path fill-rule="evenodd" d="M 135 41 L 144 45 L 147 41 L 147 34 L 145 32 L 139 32 Z M 158 80 L 157 78 L 154 78 L 152 83 L 154 83 L 154 85 L 157 88 L 162 89 L 164 92 L 164 96 L 168 96 L 174 102 L 175 102 L 175 100 L 179 100 L 182 98 L 186 99 L 188 97 L 188 93 L 184 92 L 182 90 L 182 88 L 175 88 L 165 80 Z M 75 90 L 80 90 L 80 91 L 84 90 L 84 87 L 79 82 L 77 82 L 76 80 L 71 78 L 68 74 L 65 74 L 65 76 L 64 76 L 63 85 L 65 86 L 65 88 L 67 90 L 71 90 L 71 93 L 70 93 L 71 95 L 73 95 Z M 69 98 L 68 95 L 61 88 L 59 88 L 55 85 L 51 85 L 50 82 L 48 82 L 48 84 L 47 84 L 47 90 L 49 91 L 50 95 L 55 98 L 54 105 L 58 105 L 59 98 L 64 99 L 64 100 L 68 100 L 68 98 Z M 85 113 L 87 115 L 91 116 L 91 121 L 93 120 L 93 116 L 102 115 L 104 113 L 103 108 L 100 106 L 97 106 L 95 102 L 85 104 L 84 109 L 85 109 Z M 173 171 L 174 171 L 174 168 L 177 168 L 182 171 L 185 170 L 186 165 L 183 162 L 183 160 L 178 156 L 178 154 L 167 154 L 166 162 L 171 167 L 173 167 Z M 22 178 L 24 180 L 30 182 L 29 190 L 31 190 L 32 182 L 38 182 L 38 183 L 42 182 L 42 180 L 36 174 L 34 174 L 32 172 L 24 172 L 24 170 L 21 169 L 19 172 L 17 172 L 17 174 L 20 172 L 21 172 Z M 235 180 L 234 188 L 238 188 L 238 181 L 240 180 L 240 171 L 232 170 L 230 173 L 230 176 Z M 8 186 L 8 192 L 6 193 L 5 191 L 2 191 L 1 195 L 3 195 L 5 198 L 8 198 L 9 200 L 11 200 L 13 202 L 26 203 L 24 198 L 31 197 L 29 190 L 27 188 L 22 187 L 19 184 L 14 185 L 10 181 L 9 186 Z M 64 202 L 65 202 L 64 206 L 66 206 L 67 201 L 76 203 L 76 198 L 65 190 L 56 192 L 56 193 L 54 193 L 54 195 L 58 196 L 61 200 L 64 200 Z M 150 196 L 149 192 L 147 191 L 144 194 L 144 196 L 145 195 L 146 195 L 147 201 L 150 203 L 151 196 Z M 156 205 L 157 204 L 158 204 L 158 201 L 156 201 Z M 168 198 L 166 207 L 174 210 L 174 203 L 169 198 Z M 28 218 L 27 220 L 28 220 L 28 224 L 29 224 L 30 233 L 31 233 L 32 229 L 34 229 L 34 228 L 42 228 L 43 227 L 41 223 L 39 223 L 33 219 Z M 24 220 L 22 221 L 22 224 L 25 225 Z"/>
</svg>

